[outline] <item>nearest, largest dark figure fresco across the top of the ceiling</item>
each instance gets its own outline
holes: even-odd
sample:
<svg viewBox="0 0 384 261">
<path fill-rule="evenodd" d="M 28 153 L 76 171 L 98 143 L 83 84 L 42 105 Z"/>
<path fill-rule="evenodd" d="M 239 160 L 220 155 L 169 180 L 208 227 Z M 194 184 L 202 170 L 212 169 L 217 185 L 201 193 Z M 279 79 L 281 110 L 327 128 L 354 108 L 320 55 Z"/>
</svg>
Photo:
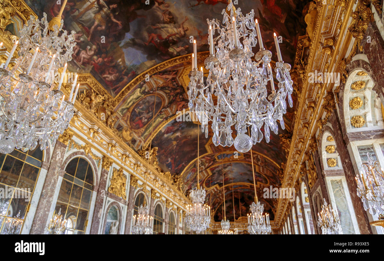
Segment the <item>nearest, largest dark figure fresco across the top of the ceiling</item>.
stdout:
<svg viewBox="0 0 384 261">
<path fill-rule="evenodd" d="M 273 32 L 282 36 L 281 52 L 292 63 L 298 35 L 305 34 L 302 12 L 309 1 L 239 0 L 243 14 L 253 8 L 266 49 L 275 50 Z M 57 0 L 26 0 L 48 20 L 61 5 Z M 146 4 L 149 3 L 149 4 Z M 222 20 L 227 0 L 68 0 L 64 28 L 74 30 L 77 45 L 68 69 L 92 74 L 115 97 L 134 77 L 160 62 L 192 52 L 207 51 L 206 19 Z M 275 52 L 273 52 L 275 53 Z M 274 54 L 275 55 L 275 54 Z M 276 57 L 273 56 L 273 60 Z"/>
</svg>

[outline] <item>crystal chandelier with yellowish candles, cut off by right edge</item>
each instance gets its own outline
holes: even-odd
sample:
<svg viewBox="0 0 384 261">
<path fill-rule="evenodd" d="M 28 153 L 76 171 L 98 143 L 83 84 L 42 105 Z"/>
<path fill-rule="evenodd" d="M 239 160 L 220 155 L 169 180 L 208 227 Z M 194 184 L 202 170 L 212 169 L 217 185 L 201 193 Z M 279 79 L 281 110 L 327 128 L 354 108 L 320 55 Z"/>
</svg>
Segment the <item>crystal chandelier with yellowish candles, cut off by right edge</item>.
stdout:
<svg viewBox="0 0 384 261">
<path fill-rule="evenodd" d="M 364 209 L 369 209 L 369 214 L 379 214 L 382 219 L 384 213 L 384 173 L 378 161 L 374 161 L 367 153 L 368 164 L 361 164 L 363 171 L 360 177 L 356 175 L 357 194 Z M 361 178 L 361 179 L 360 179 Z"/>
</svg>

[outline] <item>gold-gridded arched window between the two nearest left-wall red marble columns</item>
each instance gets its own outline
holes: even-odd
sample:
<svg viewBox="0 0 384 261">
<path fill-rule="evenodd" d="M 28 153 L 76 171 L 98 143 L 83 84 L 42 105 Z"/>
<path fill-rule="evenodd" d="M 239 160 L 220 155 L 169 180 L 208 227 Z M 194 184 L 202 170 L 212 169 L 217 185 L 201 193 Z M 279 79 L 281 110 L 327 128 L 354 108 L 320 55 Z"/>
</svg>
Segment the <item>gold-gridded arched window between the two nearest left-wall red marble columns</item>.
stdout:
<svg viewBox="0 0 384 261">
<path fill-rule="evenodd" d="M 91 165 L 80 157 L 72 159 L 65 168 L 55 209 L 73 223 L 71 227 L 67 225 L 65 234 L 85 234 L 92 191 Z"/>
</svg>

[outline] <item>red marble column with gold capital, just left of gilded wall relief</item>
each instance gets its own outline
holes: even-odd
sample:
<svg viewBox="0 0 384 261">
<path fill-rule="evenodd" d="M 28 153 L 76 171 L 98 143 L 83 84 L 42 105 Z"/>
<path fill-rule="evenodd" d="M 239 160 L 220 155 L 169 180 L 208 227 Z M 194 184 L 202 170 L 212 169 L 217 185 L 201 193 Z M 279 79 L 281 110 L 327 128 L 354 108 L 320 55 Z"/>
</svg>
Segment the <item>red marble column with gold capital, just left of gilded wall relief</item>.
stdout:
<svg viewBox="0 0 384 261">
<path fill-rule="evenodd" d="M 106 197 L 106 194 L 107 194 L 107 179 L 108 179 L 109 169 L 110 169 L 112 163 L 113 162 L 112 162 L 111 158 L 103 156 L 99 189 L 98 189 L 97 196 L 96 196 L 96 202 L 95 202 L 95 207 L 94 207 L 94 211 L 93 211 L 90 234 L 98 234 L 98 232 L 99 232 L 99 225 L 101 222 L 101 218 L 103 216 L 104 197 Z"/>
</svg>

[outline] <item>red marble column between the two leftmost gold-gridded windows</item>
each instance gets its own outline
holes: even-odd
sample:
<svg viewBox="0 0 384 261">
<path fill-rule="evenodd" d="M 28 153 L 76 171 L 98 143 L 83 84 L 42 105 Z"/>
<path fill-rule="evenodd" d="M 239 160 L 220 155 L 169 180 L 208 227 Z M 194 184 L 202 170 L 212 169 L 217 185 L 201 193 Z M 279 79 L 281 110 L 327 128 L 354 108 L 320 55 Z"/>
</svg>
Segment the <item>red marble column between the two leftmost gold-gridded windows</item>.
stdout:
<svg viewBox="0 0 384 261">
<path fill-rule="evenodd" d="M 30 234 L 44 234 L 46 231 L 46 223 L 49 217 L 52 199 L 54 197 L 59 176 L 64 176 L 64 170 L 61 169 L 63 164 L 65 150 L 68 140 L 63 142 L 57 141 L 53 149 L 50 166 L 45 177 L 43 189 L 39 202 L 36 207 L 35 218 L 33 219 Z"/>
</svg>

